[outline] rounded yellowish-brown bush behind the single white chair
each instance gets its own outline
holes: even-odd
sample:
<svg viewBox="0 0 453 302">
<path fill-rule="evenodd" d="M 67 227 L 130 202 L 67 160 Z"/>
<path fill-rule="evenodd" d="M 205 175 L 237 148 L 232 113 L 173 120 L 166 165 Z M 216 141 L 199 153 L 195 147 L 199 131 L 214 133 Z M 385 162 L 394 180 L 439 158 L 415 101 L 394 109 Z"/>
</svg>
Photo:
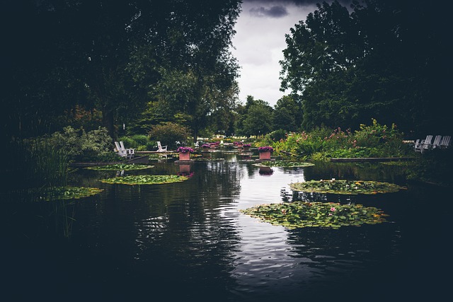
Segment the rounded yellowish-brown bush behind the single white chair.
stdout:
<svg viewBox="0 0 453 302">
<path fill-rule="evenodd" d="M 152 126 L 149 137 L 153 141 L 160 141 L 163 146 L 168 146 L 168 149 L 176 149 L 176 141 L 185 144 L 190 133 L 180 124 L 165 122 Z"/>
</svg>

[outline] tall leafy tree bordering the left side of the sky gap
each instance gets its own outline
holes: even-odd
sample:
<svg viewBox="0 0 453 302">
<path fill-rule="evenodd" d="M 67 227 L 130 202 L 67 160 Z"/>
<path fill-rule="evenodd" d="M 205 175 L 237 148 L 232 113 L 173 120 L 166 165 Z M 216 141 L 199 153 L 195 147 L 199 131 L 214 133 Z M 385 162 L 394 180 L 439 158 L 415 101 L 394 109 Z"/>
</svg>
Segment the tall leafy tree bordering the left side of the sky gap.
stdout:
<svg viewBox="0 0 453 302">
<path fill-rule="evenodd" d="M 162 76 L 151 95 L 171 114 L 187 117 L 195 141 L 200 129 L 213 124 L 217 110 L 232 110 L 237 101 L 239 66 L 229 46 L 239 1 L 189 2 L 169 27 L 172 50 L 184 47 L 163 54 Z"/>
</svg>

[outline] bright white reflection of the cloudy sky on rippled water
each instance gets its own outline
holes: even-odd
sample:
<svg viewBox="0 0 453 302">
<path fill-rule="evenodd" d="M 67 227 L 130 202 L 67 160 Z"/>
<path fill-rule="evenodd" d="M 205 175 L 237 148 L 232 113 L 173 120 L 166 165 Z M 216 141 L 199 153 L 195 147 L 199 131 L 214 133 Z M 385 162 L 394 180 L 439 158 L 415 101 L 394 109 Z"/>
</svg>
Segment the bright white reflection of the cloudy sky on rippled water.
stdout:
<svg viewBox="0 0 453 302">
<path fill-rule="evenodd" d="M 241 165 L 239 168 L 245 170 L 246 166 Z M 282 202 L 280 192 L 282 188 L 288 187 L 294 175 L 284 173 L 280 168 L 274 168 L 273 171 L 268 178 L 262 178 L 259 177 L 259 168 L 254 168 L 253 175 L 246 175 L 241 180 L 239 208 Z M 266 289 L 275 291 L 275 286 L 291 291 L 294 284 L 287 279 L 294 274 L 307 272 L 303 267 L 297 267 L 302 260 L 292 251 L 294 247 L 288 245 L 287 230 L 246 215 L 239 215 L 238 223 L 242 230 L 241 241 L 234 252 L 235 268 L 231 271 L 231 277 L 239 283 L 238 291 L 242 289 L 243 294 L 256 294 L 258 291 L 265 294 Z"/>
</svg>

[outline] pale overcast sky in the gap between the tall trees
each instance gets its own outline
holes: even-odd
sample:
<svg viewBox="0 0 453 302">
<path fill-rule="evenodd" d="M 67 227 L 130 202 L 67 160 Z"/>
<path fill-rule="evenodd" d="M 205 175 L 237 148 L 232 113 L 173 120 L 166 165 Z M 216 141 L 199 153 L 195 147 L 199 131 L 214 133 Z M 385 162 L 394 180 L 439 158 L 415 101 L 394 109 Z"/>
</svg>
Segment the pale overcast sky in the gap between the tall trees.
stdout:
<svg viewBox="0 0 453 302">
<path fill-rule="evenodd" d="M 231 50 L 241 66 L 238 81 L 242 103 L 252 95 L 274 106 L 287 94 L 280 91 L 278 63 L 286 48 L 285 34 L 316 10 L 316 2 L 321 1 L 243 0 L 233 38 L 235 49 Z"/>
</svg>

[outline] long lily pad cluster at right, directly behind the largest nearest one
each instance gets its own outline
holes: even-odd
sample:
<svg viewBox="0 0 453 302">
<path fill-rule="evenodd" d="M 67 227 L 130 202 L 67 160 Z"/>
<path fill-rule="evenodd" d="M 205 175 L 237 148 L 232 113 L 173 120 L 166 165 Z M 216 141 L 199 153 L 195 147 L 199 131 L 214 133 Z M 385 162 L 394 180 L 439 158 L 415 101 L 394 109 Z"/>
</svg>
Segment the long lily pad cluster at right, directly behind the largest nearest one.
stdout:
<svg viewBox="0 0 453 302">
<path fill-rule="evenodd" d="M 365 180 L 309 180 L 289 184 L 294 191 L 319 192 L 333 194 L 377 194 L 398 192 L 406 187 L 401 187 L 389 182 L 376 182 Z"/>
</svg>

